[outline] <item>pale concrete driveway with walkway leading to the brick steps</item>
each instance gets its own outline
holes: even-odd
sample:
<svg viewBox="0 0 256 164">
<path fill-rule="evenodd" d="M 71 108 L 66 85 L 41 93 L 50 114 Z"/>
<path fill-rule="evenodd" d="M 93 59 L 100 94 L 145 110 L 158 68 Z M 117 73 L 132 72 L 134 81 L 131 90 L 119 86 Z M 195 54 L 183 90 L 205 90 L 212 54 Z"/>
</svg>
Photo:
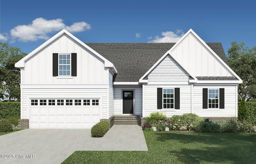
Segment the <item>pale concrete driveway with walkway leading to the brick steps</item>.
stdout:
<svg viewBox="0 0 256 164">
<path fill-rule="evenodd" d="M 138 125 L 114 125 L 102 138 L 92 138 L 90 129 L 25 129 L 0 136 L 1 164 L 60 164 L 76 150 L 148 148 Z"/>
</svg>

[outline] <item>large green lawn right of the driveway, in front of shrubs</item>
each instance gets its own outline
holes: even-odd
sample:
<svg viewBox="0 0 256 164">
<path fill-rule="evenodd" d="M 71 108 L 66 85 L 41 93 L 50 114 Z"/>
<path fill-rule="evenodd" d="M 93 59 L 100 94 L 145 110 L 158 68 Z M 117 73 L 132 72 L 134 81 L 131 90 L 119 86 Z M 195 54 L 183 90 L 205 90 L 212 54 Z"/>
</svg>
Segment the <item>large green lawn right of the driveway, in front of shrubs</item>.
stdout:
<svg viewBox="0 0 256 164">
<path fill-rule="evenodd" d="M 255 164 L 256 133 L 144 131 L 148 151 L 76 151 L 63 164 Z"/>
</svg>

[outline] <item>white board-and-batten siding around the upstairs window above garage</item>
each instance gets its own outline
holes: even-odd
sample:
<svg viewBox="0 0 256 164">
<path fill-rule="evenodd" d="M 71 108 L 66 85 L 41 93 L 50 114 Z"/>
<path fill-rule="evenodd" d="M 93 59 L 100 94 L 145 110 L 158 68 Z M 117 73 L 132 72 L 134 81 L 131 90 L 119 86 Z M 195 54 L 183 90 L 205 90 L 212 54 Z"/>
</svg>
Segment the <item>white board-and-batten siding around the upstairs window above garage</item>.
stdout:
<svg viewBox="0 0 256 164">
<path fill-rule="evenodd" d="M 52 76 L 53 53 L 77 53 L 77 76 Z M 104 61 L 68 35 L 62 35 L 28 59 L 21 77 L 21 84 L 108 84 Z"/>
</svg>

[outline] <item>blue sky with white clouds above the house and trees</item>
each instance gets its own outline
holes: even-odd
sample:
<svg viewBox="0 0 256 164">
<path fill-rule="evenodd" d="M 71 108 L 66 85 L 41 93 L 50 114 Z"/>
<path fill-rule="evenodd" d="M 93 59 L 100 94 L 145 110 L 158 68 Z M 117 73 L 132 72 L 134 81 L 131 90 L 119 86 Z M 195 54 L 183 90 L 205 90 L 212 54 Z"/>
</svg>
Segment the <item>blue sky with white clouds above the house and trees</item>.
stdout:
<svg viewBox="0 0 256 164">
<path fill-rule="evenodd" d="M 65 28 L 84 43 L 205 42 L 256 46 L 253 0 L 1 0 L 0 42 L 30 53 Z"/>
</svg>

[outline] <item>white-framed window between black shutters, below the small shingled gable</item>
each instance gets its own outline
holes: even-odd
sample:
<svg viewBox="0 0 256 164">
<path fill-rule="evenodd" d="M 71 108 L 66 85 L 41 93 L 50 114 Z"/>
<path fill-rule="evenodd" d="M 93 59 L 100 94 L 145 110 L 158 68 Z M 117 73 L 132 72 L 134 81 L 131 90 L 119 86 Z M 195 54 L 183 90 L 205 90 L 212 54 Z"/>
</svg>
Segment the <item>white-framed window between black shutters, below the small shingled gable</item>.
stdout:
<svg viewBox="0 0 256 164">
<path fill-rule="evenodd" d="M 163 89 L 164 109 L 174 109 L 174 89 Z"/>
</svg>

